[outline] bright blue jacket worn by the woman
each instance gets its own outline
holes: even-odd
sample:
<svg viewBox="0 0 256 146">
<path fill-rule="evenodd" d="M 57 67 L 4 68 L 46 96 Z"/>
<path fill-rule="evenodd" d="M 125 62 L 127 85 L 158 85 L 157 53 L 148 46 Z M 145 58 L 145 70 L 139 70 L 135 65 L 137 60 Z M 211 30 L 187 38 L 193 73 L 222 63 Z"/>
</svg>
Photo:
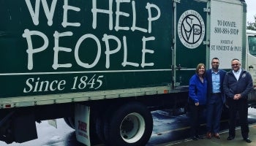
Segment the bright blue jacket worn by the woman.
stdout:
<svg viewBox="0 0 256 146">
<path fill-rule="evenodd" d="M 203 77 L 203 82 L 200 81 L 197 74 L 194 74 L 189 80 L 189 98 L 192 101 L 199 102 L 199 105 L 206 104 L 207 97 L 207 81 Z"/>
</svg>

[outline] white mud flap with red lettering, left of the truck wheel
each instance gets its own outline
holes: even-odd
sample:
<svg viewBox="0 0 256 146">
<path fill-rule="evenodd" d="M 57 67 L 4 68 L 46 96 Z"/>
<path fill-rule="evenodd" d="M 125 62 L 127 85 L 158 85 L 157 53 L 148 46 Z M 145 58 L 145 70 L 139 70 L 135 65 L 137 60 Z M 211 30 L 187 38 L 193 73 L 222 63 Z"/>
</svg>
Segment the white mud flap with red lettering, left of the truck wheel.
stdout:
<svg viewBox="0 0 256 146">
<path fill-rule="evenodd" d="M 90 107 L 83 104 L 75 105 L 75 135 L 78 142 L 90 146 L 89 119 Z"/>
</svg>

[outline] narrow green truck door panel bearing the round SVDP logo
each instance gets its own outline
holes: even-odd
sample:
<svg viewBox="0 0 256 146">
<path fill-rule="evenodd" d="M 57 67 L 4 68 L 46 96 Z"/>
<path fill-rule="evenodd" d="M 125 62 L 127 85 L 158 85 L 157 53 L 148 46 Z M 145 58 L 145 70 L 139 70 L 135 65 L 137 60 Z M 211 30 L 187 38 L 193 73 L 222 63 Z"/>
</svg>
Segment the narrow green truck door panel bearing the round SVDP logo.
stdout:
<svg viewBox="0 0 256 146">
<path fill-rule="evenodd" d="M 175 5 L 174 76 L 176 85 L 188 85 L 197 64 L 206 64 L 207 1 L 182 0 Z"/>
</svg>

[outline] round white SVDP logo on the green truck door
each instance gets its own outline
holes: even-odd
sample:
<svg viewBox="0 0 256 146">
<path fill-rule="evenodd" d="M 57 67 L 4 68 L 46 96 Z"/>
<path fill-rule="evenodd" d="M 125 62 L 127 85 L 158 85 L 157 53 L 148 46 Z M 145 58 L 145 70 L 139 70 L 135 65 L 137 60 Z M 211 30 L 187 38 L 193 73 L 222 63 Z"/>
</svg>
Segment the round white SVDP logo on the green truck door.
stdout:
<svg viewBox="0 0 256 146">
<path fill-rule="evenodd" d="M 189 9 L 178 20 L 178 37 L 190 49 L 198 47 L 205 36 L 205 24 L 201 15 Z"/>
</svg>

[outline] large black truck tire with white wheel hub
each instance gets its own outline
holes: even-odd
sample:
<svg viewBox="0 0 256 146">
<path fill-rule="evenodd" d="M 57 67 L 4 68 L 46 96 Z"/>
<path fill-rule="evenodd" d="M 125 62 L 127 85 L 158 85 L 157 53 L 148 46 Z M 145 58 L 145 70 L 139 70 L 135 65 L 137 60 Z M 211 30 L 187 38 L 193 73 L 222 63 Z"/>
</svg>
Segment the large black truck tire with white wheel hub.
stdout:
<svg viewBox="0 0 256 146">
<path fill-rule="evenodd" d="M 107 145 L 142 146 L 151 137 L 151 112 L 138 102 L 124 104 L 105 119 L 104 136 Z"/>
</svg>

